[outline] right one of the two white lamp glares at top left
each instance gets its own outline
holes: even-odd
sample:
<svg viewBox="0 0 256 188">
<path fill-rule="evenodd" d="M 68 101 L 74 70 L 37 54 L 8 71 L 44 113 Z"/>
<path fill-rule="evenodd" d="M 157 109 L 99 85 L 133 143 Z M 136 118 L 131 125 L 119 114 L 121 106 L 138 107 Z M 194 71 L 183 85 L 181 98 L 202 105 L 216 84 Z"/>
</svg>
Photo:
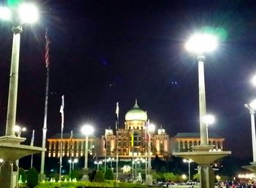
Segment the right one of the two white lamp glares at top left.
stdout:
<svg viewBox="0 0 256 188">
<path fill-rule="evenodd" d="M 37 7 L 34 4 L 21 4 L 19 7 L 20 20 L 23 23 L 34 23 L 38 19 Z"/>
</svg>

